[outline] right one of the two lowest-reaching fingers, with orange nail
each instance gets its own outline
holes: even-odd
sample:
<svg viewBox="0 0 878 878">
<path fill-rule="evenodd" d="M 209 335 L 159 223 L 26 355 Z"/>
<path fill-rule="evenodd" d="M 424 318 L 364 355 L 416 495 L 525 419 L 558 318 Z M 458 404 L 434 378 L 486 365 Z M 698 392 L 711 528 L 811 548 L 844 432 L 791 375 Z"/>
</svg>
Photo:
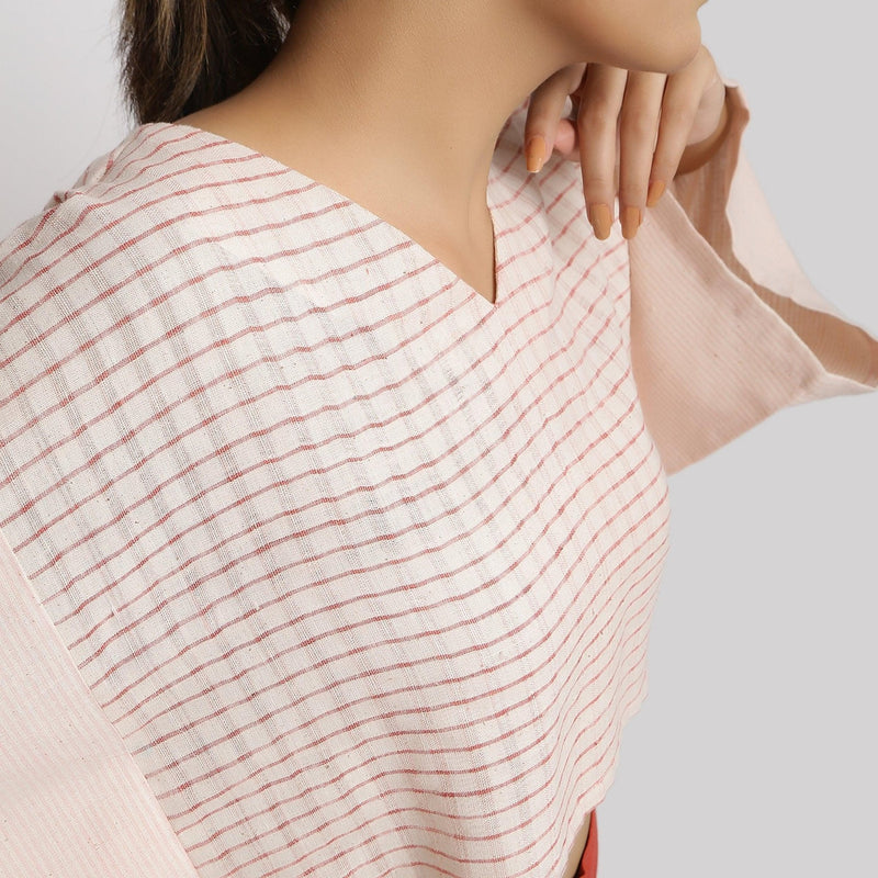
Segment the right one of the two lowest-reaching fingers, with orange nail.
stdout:
<svg viewBox="0 0 878 878">
<path fill-rule="evenodd" d="M 619 218 L 628 239 L 643 222 L 666 79 L 664 74 L 628 75 L 619 126 Z"/>
</svg>

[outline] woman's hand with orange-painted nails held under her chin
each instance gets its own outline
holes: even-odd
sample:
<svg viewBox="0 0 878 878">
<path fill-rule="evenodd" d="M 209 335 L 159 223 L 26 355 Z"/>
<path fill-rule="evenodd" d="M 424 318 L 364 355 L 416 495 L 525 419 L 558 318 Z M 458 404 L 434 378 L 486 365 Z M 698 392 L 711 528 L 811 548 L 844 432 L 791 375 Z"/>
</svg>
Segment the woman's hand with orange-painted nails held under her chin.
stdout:
<svg viewBox="0 0 878 878">
<path fill-rule="evenodd" d="M 563 116 L 567 97 L 574 119 Z M 725 87 L 705 46 L 671 75 L 573 64 L 530 97 L 525 122 L 528 170 L 539 170 L 552 149 L 579 161 L 595 235 L 609 237 L 618 192 L 622 235 L 630 239 L 667 182 L 716 151 L 727 121 Z"/>
</svg>

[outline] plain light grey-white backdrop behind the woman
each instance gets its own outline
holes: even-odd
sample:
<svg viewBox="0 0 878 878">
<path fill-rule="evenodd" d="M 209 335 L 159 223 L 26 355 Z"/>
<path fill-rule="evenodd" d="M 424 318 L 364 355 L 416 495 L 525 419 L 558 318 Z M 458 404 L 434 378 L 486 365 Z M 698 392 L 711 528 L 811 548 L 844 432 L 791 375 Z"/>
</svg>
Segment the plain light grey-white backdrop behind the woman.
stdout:
<svg viewBox="0 0 878 878">
<path fill-rule="evenodd" d="M 0 0 L 0 238 L 131 127 L 116 14 Z M 700 15 L 799 261 L 878 333 L 868 7 L 711 0 Z M 878 394 L 780 412 L 671 488 L 650 697 L 598 810 L 600 878 L 878 875 Z"/>
</svg>

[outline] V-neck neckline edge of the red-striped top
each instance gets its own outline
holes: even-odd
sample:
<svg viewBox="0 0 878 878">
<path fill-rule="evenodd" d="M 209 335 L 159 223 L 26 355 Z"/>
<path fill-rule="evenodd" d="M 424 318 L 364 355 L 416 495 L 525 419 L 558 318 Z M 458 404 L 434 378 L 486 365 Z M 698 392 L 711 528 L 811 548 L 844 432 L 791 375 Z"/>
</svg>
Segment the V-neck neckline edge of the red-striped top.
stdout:
<svg viewBox="0 0 878 878">
<path fill-rule="evenodd" d="M 266 155 L 264 153 L 260 153 L 252 147 L 246 146 L 237 140 L 232 140 L 228 137 L 224 137 L 219 134 L 215 134 L 214 132 L 206 131 L 204 128 L 200 128 L 195 125 L 188 125 L 182 122 L 146 122 L 139 125 L 134 132 L 134 137 L 137 136 L 138 132 L 150 133 L 151 131 L 158 131 L 161 133 L 172 133 L 175 131 L 180 131 L 188 134 L 189 137 L 198 137 L 200 143 L 213 143 L 213 144 L 221 144 L 230 149 L 234 149 L 241 156 L 247 156 L 252 158 L 256 161 L 264 165 L 267 168 L 271 168 L 272 171 L 275 173 L 283 173 L 286 177 L 294 179 L 297 183 L 301 183 L 302 188 L 305 189 L 313 189 L 319 188 L 324 192 L 328 192 L 334 200 L 337 200 L 344 203 L 349 210 L 352 210 L 360 214 L 363 217 L 363 225 L 373 226 L 376 223 L 383 225 L 386 229 L 390 229 L 391 233 L 399 239 L 401 243 L 405 244 L 407 247 L 412 248 L 413 251 L 418 255 L 427 264 L 430 264 L 436 268 L 436 270 L 440 271 L 442 274 L 446 275 L 449 285 L 454 285 L 461 289 L 468 300 L 476 301 L 476 304 L 480 307 L 487 308 L 489 311 L 496 311 L 506 302 L 509 296 L 509 290 L 507 290 L 505 284 L 505 274 L 504 274 L 504 266 L 509 260 L 509 254 L 506 252 L 506 225 L 505 225 L 505 214 L 504 214 L 504 204 L 505 202 L 502 200 L 504 198 L 503 193 L 498 191 L 498 175 L 496 171 L 496 167 L 492 162 L 491 172 L 488 175 L 488 183 L 487 183 L 487 191 L 486 191 L 486 206 L 488 209 L 488 213 L 491 215 L 491 223 L 492 223 L 492 232 L 493 232 L 493 241 L 494 241 L 494 301 L 492 302 L 485 295 L 479 292 L 474 286 L 468 283 L 463 278 L 457 274 L 454 271 L 451 270 L 444 262 L 442 262 L 437 256 L 431 254 L 423 244 L 419 244 L 410 235 L 403 232 L 398 226 L 395 226 L 393 223 L 385 219 L 383 216 L 379 216 L 373 211 L 369 210 L 365 205 L 361 204 L 358 201 L 346 195 L 344 192 L 339 192 L 337 189 L 324 183 L 319 180 L 315 180 L 313 177 L 304 173 L 303 171 L 297 170 L 296 168 L 291 167 L 290 165 L 285 165 L 284 162 L 272 158 L 271 156 Z M 506 200 L 508 201 L 508 193 L 505 195 Z"/>
</svg>

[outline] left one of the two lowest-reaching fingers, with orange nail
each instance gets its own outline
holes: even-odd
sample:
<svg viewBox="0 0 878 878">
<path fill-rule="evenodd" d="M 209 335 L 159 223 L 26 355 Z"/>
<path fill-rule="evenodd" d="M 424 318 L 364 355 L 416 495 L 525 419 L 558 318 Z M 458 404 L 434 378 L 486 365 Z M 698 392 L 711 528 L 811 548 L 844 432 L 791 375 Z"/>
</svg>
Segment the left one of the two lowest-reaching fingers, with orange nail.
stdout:
<svg viewBox="0 0 878 878">
<path fill-rule="evenodd" d="M 619 67 L 589 65 L 576 117 L 588 222 L 600 240 L 609 237 L 612 226 L 617 120 L 627 80 L 628 71 Z"/>
</svg>

